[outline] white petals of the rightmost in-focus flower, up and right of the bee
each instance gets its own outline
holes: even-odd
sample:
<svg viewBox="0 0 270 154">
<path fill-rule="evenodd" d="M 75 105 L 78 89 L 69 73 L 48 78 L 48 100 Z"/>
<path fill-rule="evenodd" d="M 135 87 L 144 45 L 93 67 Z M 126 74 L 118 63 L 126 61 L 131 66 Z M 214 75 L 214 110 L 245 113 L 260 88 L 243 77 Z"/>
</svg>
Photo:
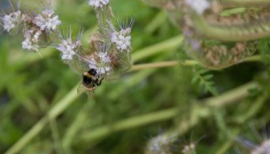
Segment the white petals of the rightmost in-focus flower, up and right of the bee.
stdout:
<svg viewBox="0 0 270 154">
<path fill-rule="evenodd" d="M 128 51 L 131 46 L 131 27 L 115 31 L 111 34 L 111 42 L 116 44 L 116 47 L 120 51 Z"/>
</svg>

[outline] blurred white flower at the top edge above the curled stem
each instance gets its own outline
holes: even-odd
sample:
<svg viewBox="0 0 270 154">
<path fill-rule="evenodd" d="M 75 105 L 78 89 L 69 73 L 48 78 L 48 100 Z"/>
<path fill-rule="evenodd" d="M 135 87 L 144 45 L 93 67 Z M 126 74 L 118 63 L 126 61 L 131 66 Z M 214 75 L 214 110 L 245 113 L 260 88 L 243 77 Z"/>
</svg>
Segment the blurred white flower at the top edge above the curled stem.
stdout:
<svg viewBox="0 0 270 154">
<path fill-rule="evenodd" d="M 185 2 L 198 14 L 203 14 L 210 7 L 210 2 L 207 0 L 185 0 Z"/>
</svg>

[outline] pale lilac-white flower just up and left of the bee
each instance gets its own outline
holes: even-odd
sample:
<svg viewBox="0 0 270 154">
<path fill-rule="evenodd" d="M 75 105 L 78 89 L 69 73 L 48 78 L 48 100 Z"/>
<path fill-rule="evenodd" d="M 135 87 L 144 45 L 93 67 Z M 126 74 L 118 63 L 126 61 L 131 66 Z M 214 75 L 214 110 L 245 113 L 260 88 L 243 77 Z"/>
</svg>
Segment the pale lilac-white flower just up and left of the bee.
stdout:
<svg viewBox="0 0 270 154">
<path fill-rule="evenodd" d="M 81 42 L 79 40 L 72 42 L 71 38 L 68 38 L 66 40 L 62 40 L 56 49 L 62 52 L 62 60 L 72 60 L 80 46 Z"/>
</svg>

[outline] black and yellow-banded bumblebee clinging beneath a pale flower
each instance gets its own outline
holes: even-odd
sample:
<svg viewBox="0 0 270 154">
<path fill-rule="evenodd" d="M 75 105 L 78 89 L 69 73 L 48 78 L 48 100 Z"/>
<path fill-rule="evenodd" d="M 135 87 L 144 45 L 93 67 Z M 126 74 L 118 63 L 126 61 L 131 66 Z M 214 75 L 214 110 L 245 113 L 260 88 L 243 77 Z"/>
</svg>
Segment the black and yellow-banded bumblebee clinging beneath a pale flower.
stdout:
<svg viewBox="0 0 270 154">
<path fill-rule="evenodd" d="M 82 85 L 87 91 L 94 91 L 96 86 L 100 86 L 102 80 L 104 79 L 100 79 L 99 75 L 97 75 L 97 71 L 92 68 L 89 71 L 84 72 L 82 76 Z"/>
</svg>

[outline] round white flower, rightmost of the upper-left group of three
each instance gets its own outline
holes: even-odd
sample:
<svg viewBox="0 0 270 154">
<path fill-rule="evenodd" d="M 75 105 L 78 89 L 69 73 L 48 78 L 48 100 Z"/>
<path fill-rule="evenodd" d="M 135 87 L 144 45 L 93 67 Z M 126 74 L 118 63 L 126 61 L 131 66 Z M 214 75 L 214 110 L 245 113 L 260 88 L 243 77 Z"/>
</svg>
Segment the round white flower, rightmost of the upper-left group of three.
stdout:
<svg viewBox="0 0 270 154">
<path fill-rule="evenodd" d="M 51 31 L 55 30 L 61 21 L 58 19 L 58 15 L 54 15 L 54 11 L 51 9 L 46 9 L 38 14 L 34 18 L 34 24 L 36 24 L 40 30 Z"/>
</svg>

